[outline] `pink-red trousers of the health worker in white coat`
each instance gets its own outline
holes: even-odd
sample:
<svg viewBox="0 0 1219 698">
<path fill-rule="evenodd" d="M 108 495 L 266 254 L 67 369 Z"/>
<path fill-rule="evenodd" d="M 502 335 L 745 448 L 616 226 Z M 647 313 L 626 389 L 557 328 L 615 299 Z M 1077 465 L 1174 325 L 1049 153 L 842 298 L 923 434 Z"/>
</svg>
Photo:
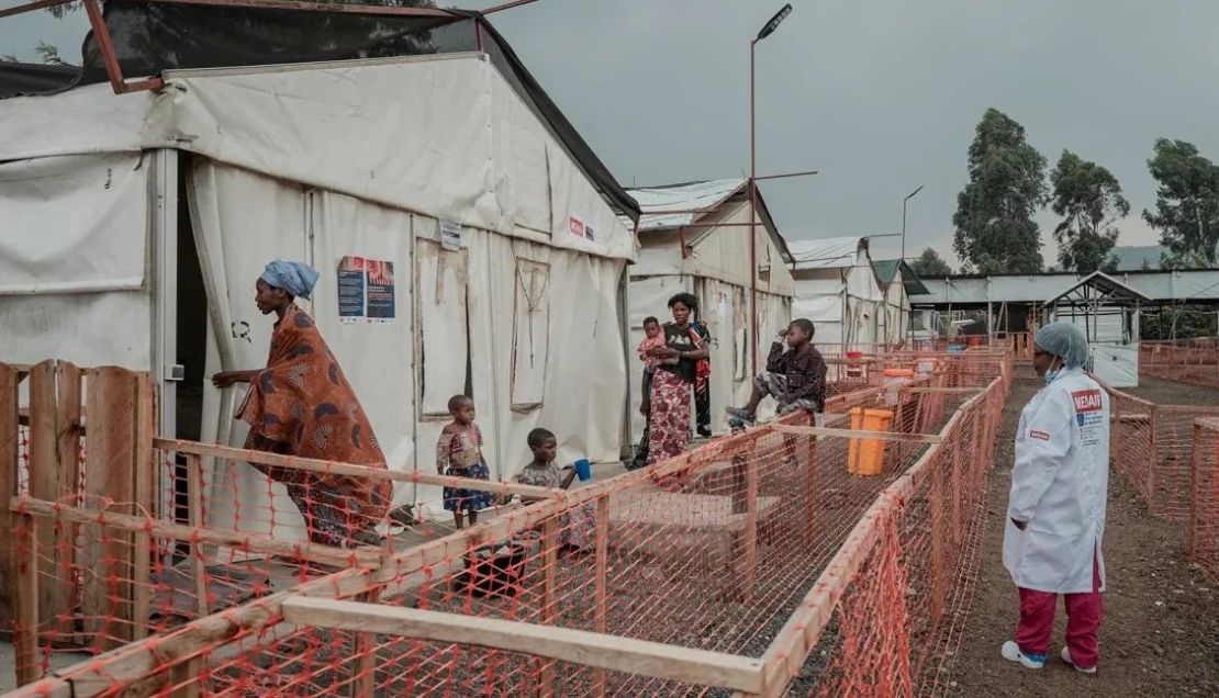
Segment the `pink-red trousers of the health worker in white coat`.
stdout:
<svg viewBox="0 0 1219 698">
<path fill-rule="evenodd" d="M 1091 669 L 1100 660 L 1096 631 L 1101 627 L 1104 603 L 1101 601 L 1101 565 L 1092 558 L 1092 591 L 1064 593 L 1067 608 L 1067 648 L 1072 661 Z M 1015 627 L 1015 643 L 1024 654 L 1046 655 L 1054 629 L 1054 607 L 1058 594 L 1020 588 L 1020 624 Z"/>
</svg>

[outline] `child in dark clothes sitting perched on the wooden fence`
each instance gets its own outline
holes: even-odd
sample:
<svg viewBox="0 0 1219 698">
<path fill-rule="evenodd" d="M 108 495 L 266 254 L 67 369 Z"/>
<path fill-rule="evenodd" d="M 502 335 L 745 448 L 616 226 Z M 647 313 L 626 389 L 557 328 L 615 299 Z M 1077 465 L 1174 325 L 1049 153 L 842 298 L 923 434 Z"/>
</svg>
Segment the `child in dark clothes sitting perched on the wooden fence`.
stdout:
<svg viewBox="0 0 1219 698">
<path fill-rule="evenodd" d="M 813 322 L 800 318 L 779 333 L 778 340 L 770 345 L 766 370 L 753 378 L 753 395 L 748 404 L 727 408 L 729 417 L 756 421 L 758 403 L 768 395 L 778 403 L 779 414 L 797 409 L 814 414 L 825 411 L 825 359 L 822 352 L 813 348 Z M 787 351 L 784 351 L 784 344 Z"/>
</svg>

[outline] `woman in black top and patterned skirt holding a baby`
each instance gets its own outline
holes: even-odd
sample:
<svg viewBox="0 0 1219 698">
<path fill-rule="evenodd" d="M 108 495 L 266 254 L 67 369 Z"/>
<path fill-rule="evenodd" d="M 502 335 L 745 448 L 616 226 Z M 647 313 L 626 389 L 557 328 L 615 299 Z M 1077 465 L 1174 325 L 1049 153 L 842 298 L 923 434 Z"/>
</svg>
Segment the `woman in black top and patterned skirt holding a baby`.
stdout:
<svg viewBox="0 0 1219 698">
<path fill-rule="evenodd" d="M 651 357 L 678 359 L 673 364 L 661 362 L 652 378 L 649 465 L 680 456 L 690 443 L 690 397 L 697 364 L 711 357 L 706 328 L 690 322 L 697 309 L 698 300 L 692 294 L 669 298 L 673 322 L 664 323 L 664 346 L 647 351 Z"/>
</svg>

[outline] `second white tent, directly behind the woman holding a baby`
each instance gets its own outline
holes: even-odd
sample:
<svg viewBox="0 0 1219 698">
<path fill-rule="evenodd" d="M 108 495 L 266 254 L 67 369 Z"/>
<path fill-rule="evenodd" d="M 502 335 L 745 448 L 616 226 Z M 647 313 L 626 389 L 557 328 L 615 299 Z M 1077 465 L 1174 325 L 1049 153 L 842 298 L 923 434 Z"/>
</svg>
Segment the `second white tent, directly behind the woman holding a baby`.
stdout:
<svg viewBox="0 0 1219 698">
<path fill-rule="evenodd" d="M 766 211 L 761 195 L 757 222 L 750 227 L 748 180 L 716 179 L 628 190 L 639 201 L 639 262 L 630 268 L 633 346 L 644 336 L 642 322 L 669 319 L 668 300 L 683 291 L 698 298 L 700 319 L 711 330 L 711 426 L 728 428 L 724 408 L 748 400 L 751 351 L 766 367 L 770 340 L 791 322 L 792 280 L 786 244 Z M 653 213 L 649 213 L 649 212 Z M 664 213 L 672 212 L 672 213 Z M 755 235 L 757 268 L 751 278 L 750 235 Z M 683 247 L 684 246 L 684 247 Z M 758 328 L 751 336 L 750 298 L 757 284 Z M 631 404 L 640 400 L 642 363 L 633 352 Z M 642 431 L 638 411 L 635 434 Z"/>
</svg>

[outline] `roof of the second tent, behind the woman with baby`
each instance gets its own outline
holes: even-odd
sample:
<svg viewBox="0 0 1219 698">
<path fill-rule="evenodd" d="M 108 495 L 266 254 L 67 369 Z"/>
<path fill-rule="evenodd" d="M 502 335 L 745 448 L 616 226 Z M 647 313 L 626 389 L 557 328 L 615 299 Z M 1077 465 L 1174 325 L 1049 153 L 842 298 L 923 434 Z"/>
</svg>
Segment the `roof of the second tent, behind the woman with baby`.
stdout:
<svg viewBox="0 0 1219 698">
<path fill-rule="evenodd" d="M 735 177 L 728 179 L 705 179 L 680 184 L 658 186 L 639 186 L 627 192 L 639 202 L 639 231 L 673 230 L 694 224 L 700 218 L 716 212 L 720 206 L 742 201 L 748 196 L 748 179 Z M 762 188 L 757 194 L 758 217 L 766 225 L 767 234 L 783 255 L 785 262 L 791 262 L 791 250 L 779 233 L 779 227 L 770 217 Z M 651 213 L 649 211 L 664 212 Z M 677 213 L 672 213 L 677 212 Z"/>
</svg>

